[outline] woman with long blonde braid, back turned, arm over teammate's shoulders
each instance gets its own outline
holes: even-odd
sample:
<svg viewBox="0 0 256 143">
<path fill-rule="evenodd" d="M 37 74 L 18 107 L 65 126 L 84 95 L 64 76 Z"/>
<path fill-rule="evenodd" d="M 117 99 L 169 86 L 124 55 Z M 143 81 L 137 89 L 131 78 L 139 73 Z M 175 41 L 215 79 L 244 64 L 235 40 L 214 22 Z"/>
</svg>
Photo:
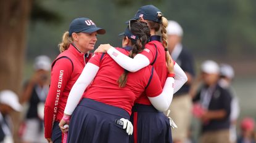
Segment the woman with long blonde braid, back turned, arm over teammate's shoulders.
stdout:
<svg viewBox="0 0 256 143">
<path fill-rule="evenodd" d="M 151 39 L 146 44 L 143 52 L 129 58 L 128 56 L 118 52 L 109 44 L 100 45 L 94 53 L 105 53 L 113 58 L 122 68 L 130 72 L 139 71 L 151 64 L 161 81 L 162 87 L 165 85 L 165 79 L 168 76 L 166 61 L 170 60 L 170 54 L 167 50 L 167 25 L 168 21 L 163 17 L 157 7 L 152 5 L 142 6 L 139 8 L 132 20 L 144 21 L 151 31 Z M 115 55 L 113 55 L 115 53 Z M 174 93 L 178 91 L 187 81 L 186 74 L 175 63 L 175 85 Z M 171 96 L 172 98 L 172 96 Z M 134 125 L 134 136 L 131 142 L 172 142 L 171 127 L 175 128 L 173 121 L 168 119 L 162 112 L 155 110 L 147 95 L 140 96 L 136 99 L 133 107 L 131 121 Z M 170 122 L 170 123 L 169 123 Z"/>
</svg>

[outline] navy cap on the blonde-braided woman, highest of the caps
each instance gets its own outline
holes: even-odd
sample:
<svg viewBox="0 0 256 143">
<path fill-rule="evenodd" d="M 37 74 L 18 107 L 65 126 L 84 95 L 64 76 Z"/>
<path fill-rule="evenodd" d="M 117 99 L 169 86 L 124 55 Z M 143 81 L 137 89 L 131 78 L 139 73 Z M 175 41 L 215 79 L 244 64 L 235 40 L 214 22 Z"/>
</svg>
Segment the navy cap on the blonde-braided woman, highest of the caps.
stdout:
<svg viewBox="0 0 256 143">
<path fill-rule="evenodd" d="M 144 20 L 151 20 L 157 23 L 161 23 L 162 17 L 160 16 L 162 16 L 162 12 L 157 9 L 157 7 L 153 5 L 147 5 L 140 7 L 133 19 L 131 20 L 138 20 L 139 18 L 143 18 Z"/>
</svg>

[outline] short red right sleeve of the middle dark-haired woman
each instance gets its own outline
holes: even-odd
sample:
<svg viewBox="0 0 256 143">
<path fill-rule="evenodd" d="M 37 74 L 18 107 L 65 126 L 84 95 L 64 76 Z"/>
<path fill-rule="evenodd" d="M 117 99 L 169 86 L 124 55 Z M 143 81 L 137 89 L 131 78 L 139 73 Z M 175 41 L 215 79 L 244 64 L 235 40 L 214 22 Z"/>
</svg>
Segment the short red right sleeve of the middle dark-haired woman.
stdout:
<svg viewBox="0 0 256 143">
<path fill-rule="evenodd" d="M 146 95 L 151 98 L 159 96 L 163 91 L 159 76 L 157 75 L 157 72 L 155 72 L 155 69 L 152 69 L 153 71 L 151 72 L 151 81 L 145 90 Z"/>
</svg>

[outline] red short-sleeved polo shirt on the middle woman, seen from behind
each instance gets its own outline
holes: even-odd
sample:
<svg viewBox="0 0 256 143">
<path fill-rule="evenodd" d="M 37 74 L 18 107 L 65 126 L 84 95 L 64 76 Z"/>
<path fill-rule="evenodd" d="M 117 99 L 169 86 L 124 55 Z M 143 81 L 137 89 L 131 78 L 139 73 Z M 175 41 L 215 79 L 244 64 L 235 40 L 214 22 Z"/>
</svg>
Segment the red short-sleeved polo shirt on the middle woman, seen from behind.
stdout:
<svg viewBox="0 0 256 143">
<path fill-rule="evenodd" d="M 117 50 L 125 55 L 130 53 L 123 48 L 117 48 Z M 89 60 L 89 63 L 99 66 L 99 71 L 83 98 L 90 98 L 111 106 L 120 107 L 131 114 L 131 107 L 135 99 L 139 98 L 143 91 L 149 97 L 155 97 L 162 93 L 159 77 L 154 69 L 152 71 L 151 65 L 142 68 L 138 72 L 128 72 L 126 86 L 119 88 L 117 80 L 123 74 L 124 69 L 112 60 L 109 55 L 105 54 L 102 59 L 101 56 L 102 53 L 96 53 Z M 152 79 L 149 83 L 151 75 Z M 147 83 L 149 85 L 145 90 Z"/>
</svg>

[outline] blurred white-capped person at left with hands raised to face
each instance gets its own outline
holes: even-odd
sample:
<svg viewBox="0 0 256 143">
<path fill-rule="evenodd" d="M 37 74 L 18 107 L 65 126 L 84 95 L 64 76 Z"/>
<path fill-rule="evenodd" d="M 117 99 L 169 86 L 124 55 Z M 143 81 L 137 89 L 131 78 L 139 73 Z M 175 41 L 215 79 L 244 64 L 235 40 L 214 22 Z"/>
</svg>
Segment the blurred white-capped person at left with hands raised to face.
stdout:
<svg viewBox="0 0 256 143">
<path fill-rule="evenodd" d="M 35 58 L 35 72 L 25 84 L 21 102 L 28 104 L 22 125 L 23 143 L 43 143 L 44 139 L 44 102 L 49 91 L 49 71 L 51 59 L 46 55 Z"/>
</svg>

